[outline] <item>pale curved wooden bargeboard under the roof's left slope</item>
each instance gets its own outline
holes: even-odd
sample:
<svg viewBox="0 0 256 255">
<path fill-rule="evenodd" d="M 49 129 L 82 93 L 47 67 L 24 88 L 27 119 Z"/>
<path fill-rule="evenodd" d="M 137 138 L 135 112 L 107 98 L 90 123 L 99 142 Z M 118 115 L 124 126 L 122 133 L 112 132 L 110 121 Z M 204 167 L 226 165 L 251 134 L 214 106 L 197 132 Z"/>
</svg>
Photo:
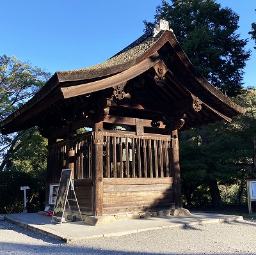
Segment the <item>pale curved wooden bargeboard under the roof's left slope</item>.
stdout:
<svg viewBox="0 0 256 255">
<path fill-rule="evenodd" d="M 132 66 L 124 72 L 118 73 L 100 81 L 94 81 L 70 87 L 63 87 L 60 89 L 63 93 L 64 98 L 70 98 L 92 93 L 106 88 L 111 88 L 120 83 L 133 79 L 134 77 L 152 68 L 152 66 L 156 65 L 156 63 L 158 63 L 159 61 L 161 61 L 161 59 L 159 58 L 158 53 L 155 52 L 149 58 L 141 61 L 141 63 L 139 63 L 138 65 Z"/>
</svg>

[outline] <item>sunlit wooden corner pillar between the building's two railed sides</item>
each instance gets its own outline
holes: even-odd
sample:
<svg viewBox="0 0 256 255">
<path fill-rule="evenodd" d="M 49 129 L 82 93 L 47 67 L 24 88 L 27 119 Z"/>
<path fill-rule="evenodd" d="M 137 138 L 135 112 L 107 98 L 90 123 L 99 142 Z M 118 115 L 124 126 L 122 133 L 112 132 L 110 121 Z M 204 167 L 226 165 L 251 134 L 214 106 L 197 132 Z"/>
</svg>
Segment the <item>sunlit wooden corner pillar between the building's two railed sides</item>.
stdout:
<svg viewBox="0 0 256 255">
<path fill-rule="evenodd" d="M 95 123 L 93 131 L 99 130 L 102 123 Z M 92 215 L 103 215 L 103 137 L 102 132 L 93 133 L 92 139 Z"/>
</svg>

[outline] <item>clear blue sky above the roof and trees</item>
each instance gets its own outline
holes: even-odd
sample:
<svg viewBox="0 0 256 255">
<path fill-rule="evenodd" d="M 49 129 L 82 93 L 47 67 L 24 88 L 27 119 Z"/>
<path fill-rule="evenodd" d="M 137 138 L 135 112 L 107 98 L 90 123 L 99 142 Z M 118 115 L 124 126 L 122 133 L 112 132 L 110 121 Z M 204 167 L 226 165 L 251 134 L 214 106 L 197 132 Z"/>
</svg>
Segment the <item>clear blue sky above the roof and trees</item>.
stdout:
<svg viewBox="0 0 256 255">
<path fill-rule="evenodd" d="M 217 0 L 239 14 L 241 38 L 256 22 L 255 0 Z M 154 21 L 161 0 L 0 0 L 0 55 L 28 60 L 56 71 L 91 66 L 143 35 L 143 20 Z M 175 31 L 174 31 L 175 33 Z M 244 86 L 256 86 L 255 43 L 244 69 Z"/>
</svg>

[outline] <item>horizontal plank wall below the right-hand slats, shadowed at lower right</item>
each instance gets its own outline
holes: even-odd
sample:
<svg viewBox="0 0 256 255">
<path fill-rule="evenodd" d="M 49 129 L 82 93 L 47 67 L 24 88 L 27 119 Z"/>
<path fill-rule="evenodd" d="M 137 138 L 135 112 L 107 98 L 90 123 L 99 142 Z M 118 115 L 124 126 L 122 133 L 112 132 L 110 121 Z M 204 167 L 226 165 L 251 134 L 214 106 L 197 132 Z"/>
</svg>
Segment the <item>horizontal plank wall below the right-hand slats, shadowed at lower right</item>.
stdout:
<svg viewBox="0 0 256 255">
<path fill-rule="evenodd" d="M 173 178 L 104 178 L 103 213 L 168 210 L 173 205 Z"/>
</svg>

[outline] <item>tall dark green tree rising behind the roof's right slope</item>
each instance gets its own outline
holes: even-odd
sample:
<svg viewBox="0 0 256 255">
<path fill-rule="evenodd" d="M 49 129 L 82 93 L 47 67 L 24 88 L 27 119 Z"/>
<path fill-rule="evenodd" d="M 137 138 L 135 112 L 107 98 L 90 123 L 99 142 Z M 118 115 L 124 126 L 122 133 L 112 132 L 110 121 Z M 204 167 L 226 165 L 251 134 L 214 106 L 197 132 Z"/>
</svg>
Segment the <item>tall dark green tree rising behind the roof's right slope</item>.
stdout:
<svg viewBox="0 0 256 255">
<path fill-rule="evenodd" d="M 171 0 L 157 6 L 154 22 L 159 19 L 169 21 L 182 49 L 209 82 L 230 97 L 239 93 L 250 58 L 244 49 L 248 39 L 236 33 L 239 15 L 214 0 Z"/>
</svg>

